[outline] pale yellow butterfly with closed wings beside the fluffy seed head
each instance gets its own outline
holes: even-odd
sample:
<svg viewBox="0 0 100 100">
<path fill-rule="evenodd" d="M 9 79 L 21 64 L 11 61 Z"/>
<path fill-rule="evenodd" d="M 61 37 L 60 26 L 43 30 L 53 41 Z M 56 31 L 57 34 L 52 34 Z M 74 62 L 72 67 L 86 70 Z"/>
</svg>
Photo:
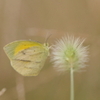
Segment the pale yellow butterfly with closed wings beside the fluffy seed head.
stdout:
<svg viewBox="0 0 100 100">
<path fill-rule="evenodd" d="M 19 40 L 4 46 L 11 66 L 23 76 L 37 76 L 49 56 L 49 44 Z"/>
</svg>

